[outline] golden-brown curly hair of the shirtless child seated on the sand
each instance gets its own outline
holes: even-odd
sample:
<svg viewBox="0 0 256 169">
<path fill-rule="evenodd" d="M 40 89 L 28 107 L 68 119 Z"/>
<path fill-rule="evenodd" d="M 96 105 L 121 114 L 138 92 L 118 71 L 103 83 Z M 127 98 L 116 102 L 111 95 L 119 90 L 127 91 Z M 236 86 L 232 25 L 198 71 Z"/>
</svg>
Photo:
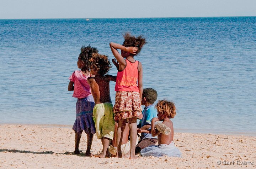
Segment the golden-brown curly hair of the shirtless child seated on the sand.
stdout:
<svg viewBox="0 0 256 169">
<path fill-rule="evenodd" d="M 176 115 L 176 107 L 171 101 L 159 100 L 155 108 L 158 113 L 164 114 L 165 118 L 174 118 Z"/>
</svg>

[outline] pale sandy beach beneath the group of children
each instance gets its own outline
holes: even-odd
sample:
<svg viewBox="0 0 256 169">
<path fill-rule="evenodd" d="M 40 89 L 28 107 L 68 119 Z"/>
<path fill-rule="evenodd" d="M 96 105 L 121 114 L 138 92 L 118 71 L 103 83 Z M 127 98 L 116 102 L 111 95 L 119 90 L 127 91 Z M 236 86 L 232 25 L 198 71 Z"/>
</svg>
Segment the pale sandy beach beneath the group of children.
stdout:
<svg viewBox="0 0 256 169">
<path fill-rule="evenodd" d="M 0 168 L 256 168 L 256 137 L 252 136 L 175 133 L 182 158 L 135 160 L 85 157 L 85 133 L 80 142 L 83 153 L 73 155 L 74 137 L 70 126 L 1 124 Z M 96 135 L 91 152 L 101 152 Z"/>
</svg>

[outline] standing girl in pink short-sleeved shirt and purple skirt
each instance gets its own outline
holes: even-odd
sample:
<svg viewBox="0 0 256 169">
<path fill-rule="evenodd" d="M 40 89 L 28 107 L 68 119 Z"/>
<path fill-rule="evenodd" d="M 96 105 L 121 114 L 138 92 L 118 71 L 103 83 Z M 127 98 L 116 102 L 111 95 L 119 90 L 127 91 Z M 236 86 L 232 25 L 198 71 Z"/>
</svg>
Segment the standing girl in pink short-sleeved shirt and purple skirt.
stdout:
<svg viewBox="0 0 256 169">
<path fill-rule="evenodd" d="M 98 50 L 90 45 L 81 47 L 81 53 L 78 57 L 78 68 L 69 77 L 68 91 L 74 91 L 73 97 L 78 98 L 76 101 L 76 120 L 73 126 L 75 131 L 75 151 L 74 154 L 80 154 L 79 143 L 82 131 L 87 134 L 87 149 L 86 156 L 92 156 L 91 145 L 93 135 L 96 133 L 95 124 L 92 120 L 92 110 L 94 108 L 94 99 L 91 94 L 90 85 L 87 83 L 87 78 L 90 77 L 89 59 L 93 53 Z"/>
</svg>

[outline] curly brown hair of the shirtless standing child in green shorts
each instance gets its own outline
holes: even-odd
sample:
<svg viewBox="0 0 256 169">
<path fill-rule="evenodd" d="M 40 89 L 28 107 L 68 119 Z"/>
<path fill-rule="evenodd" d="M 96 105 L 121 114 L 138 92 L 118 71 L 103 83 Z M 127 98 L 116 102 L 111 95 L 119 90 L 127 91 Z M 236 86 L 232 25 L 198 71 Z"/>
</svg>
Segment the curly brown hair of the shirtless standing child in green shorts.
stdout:
<svg viewBox="0 0 256 169">
<path fill-rule="evenodd" d="M 106 55 L 94 53 L 90 62 L 90 69 L 94 69 L 100 75 L 106 75 L 111 69 L 110 60 Z"/>
</svg>

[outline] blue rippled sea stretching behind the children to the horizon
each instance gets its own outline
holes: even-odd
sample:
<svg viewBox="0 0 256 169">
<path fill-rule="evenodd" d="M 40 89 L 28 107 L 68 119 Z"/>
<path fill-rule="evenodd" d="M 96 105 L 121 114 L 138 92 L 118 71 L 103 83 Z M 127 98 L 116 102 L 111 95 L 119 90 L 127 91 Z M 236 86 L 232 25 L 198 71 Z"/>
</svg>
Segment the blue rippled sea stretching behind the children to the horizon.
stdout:
<svg viewBox="0 0 256 169">
<path fill-rule="evenodd" d="M 256 135 L 256 17 L 2 19 L 0 123 L 72 125 L 80 47 L 112 59 L 126 31 L 146 37 L 143 85 L 175 102 L 177 131 Z"/>
</svg>

